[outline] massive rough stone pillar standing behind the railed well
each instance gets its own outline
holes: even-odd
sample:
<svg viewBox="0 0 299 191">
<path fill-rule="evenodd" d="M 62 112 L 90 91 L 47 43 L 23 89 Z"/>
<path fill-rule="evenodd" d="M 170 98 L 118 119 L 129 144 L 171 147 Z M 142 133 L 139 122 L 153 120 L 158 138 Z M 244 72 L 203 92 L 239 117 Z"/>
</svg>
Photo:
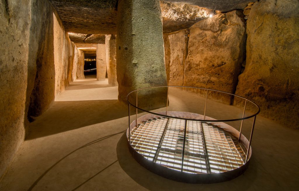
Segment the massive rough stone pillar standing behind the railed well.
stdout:
<svg viewBox="0 0 299 191">
<path fill-rule="evenodd" d="M 116 33 L 118 99 L 144 87 L 167 85 L 161 10 L 158 0 L 119 0 Z M 138 106 L 166 105 L 166 91 L 138 93 Z M 142 103 L 142 101 L 145 101 Z"/>
</svg>

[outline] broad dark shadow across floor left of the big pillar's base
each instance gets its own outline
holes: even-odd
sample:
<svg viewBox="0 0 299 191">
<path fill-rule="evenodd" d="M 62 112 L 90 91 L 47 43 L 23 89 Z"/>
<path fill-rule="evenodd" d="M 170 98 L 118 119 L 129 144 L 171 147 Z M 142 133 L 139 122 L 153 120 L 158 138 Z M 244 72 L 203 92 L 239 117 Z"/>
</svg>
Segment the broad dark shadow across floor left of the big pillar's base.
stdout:
<svg viewBox="0 0 299 191">
<path fill-rule="evenodd" d="M 53 135 L 128 115 L 118 100 L 55 101 L 36 121 L 30 123 L 26 140 Z"/>
</svg>

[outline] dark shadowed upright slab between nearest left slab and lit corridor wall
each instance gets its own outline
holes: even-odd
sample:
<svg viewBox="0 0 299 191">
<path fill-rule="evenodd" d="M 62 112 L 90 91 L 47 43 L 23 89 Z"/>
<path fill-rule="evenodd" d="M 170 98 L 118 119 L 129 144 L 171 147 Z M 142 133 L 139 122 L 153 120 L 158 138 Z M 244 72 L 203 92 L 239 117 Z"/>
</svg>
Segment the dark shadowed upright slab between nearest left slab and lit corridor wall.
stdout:
<svg viewBox="0 0 299 191">
<path fill-rule="evenodd" d="M 55 68 L 54 68 L 54 28 L 53 10 L 47 1 L 35 1 L 32 9 L 30 28 L 30 50 L 35 54 L 32 63 L 28 62 L 29 100 L 28 119 L 41 115 L 54 101 Z M 33 42 L 38 44 L 34 45 Z M 32 65 L 32 69 L 29 66 Z M 32 85 L 31 85 L 32 84 Z"/>
</svg>

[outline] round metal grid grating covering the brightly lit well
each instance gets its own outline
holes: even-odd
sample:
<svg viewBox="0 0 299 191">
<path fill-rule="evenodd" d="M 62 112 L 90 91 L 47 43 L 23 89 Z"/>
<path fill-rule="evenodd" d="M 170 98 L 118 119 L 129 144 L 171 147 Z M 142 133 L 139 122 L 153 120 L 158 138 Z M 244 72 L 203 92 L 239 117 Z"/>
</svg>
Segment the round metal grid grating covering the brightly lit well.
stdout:
<svg viewBox="0 0 299 191">
<path fill-rule="evenodd" d="M 208 123 L 188 120 L 184 139 L 184 128 L 185 120 L 180 119 L 144 121 L 131 131 L 131 146 L 150 161 L 188 173 L 219 173 L 244 164 L 245 152 L 229 133 Z"/>
</svg>

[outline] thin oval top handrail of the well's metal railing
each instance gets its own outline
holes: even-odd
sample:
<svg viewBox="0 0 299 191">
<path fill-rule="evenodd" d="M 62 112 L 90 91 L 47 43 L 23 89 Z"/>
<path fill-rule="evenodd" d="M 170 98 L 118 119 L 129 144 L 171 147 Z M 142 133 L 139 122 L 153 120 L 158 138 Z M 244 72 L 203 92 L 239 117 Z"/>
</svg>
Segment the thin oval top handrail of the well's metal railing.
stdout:
<svg viewBox="0 0 299 191">
<path fill-rule="evenodd" d="M 181 118 L 181 117 L 174 117 L 174 116 L 170 116 L 170 115 L 164 115 L 164 114 L 158 114 L 158 113 L 155 113 L 155 112 L 151 112 L 151 111 L 148 111 L 148 110 L 144 110 L 140 107 L 137 107 L 135 106 L 134 104 L 132 104 L 131 102 L 129 102 L 128 100 L 128 96 L 135 92 L 135 91 L 138 91 L 138 90 L 144 90 L 144 89 L 150 89 L 150 88 L 155 88 L 155 87 L 188 87 L 188 88 L 196 88 L 196 89 L 202 89 L 202 90 L 211 90 L 211 91 L 216 91 L 216 92 L 221 92 L 221 93 L 226 93 L 226 94 L 229 94 L 229 95 L 232 95 L 232 96 L 237 96 L 239 98 L 242 98 L 242 99 L 245 99 L 249 102 L 251 102 L 252 104 L 254 104 L 258 111 L 256 113 L 254 113 L 253 115 L 249 115 L 247 117 L 243 117 L 243 118 L 236 118 L 236 119 L 225 119 L 225 120 L 202 120 L 202 119 L 188 119 L 188 118 Z M 140 89 L 137 89 L 137 90 L 133 90 L 131 91 L 130 93 L 128 93 L 128 95 L 126 96 L 126 101 L 132 105 L 133 107 L 135 107 L 136 109 L 138 110 L 141 110 L 141 111 L 144 111 L 144 112 L 147 112 L 147 113 L 151 113 L 151 114 L 154 114 L 154 115 L 159 115 L 159 116 L 163 116 L 163 117 L 167 117 L 167 118 L 175 118 L 175 119 L 182 119 L 182 120 L 190 120 L 190 121 L 202 121 L 202 122 L 228 122 L 228 121 L 240 121 L 240 120 L 244 120 L 244 119 L 249 119 L 249 118 L 252 118 L 254 116 L 256 116 L 257 114 L 260 113 L 260 107 L 254 103 L 253 101 L 250 101 L 248 100 L 247 98 L 244 98 L 242 96 L 238 96 L 238 95 L 235 95 L 235 94 L 232 94 L 232 93 L 228 93 L 228 92 L 224 92 L 224 91 L 220 91 L 220 90 L 212 90 L 212 89 L 207 89 L 207 88 L 201 88 L 201 87 L 190 87 L 190 86 L 153 86 L 153 87 L 145 87 L 145 88 L 140 88 Z"/>
</svg>

